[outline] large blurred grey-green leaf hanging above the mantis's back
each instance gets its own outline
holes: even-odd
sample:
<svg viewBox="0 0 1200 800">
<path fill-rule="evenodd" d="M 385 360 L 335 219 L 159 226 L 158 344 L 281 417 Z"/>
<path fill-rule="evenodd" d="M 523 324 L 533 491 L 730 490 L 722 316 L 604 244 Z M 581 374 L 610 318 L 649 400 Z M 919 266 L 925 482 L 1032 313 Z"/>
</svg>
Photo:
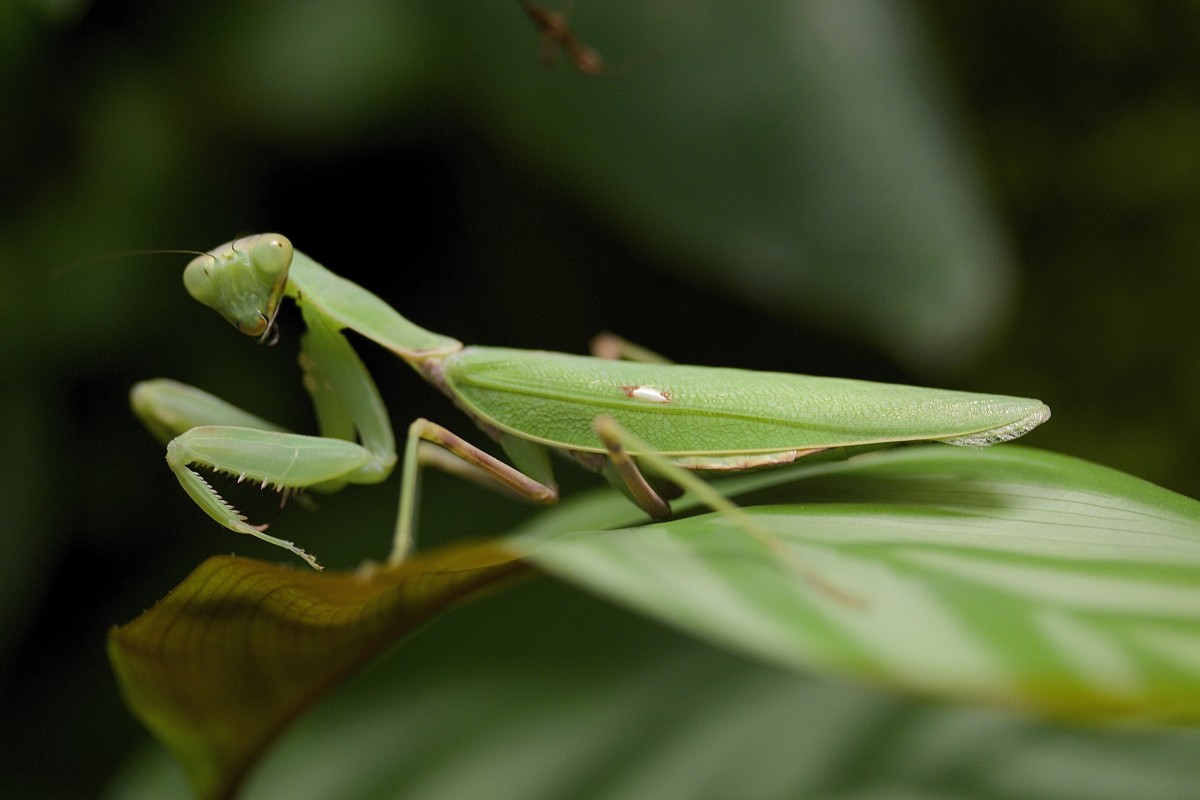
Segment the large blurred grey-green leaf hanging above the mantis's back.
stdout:
<svg viewBox="0 0 1200 800">
<path fill-rule="evenodd" d="M 608 80 L 529 59 L 504 4 L 442 4 L 475 113 L 690 281 L 926 369 L 979 351 L 1012 269 L 911 8 L 578 4 Z M 760 344 L 761 343 L 756 343 Z"/>
</svg>

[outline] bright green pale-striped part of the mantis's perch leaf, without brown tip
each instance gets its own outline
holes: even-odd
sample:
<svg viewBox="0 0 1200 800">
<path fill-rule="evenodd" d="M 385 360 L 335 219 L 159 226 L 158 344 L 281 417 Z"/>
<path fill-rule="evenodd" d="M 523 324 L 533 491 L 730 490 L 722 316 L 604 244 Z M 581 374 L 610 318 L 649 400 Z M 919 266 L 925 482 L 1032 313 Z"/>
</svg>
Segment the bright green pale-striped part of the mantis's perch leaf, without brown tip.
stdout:
<svg viewBox="0 0 1200 800">
<path fill-rule="evenodd" d="M 772 662 L 1079 718 L 1200 720 L 1200 503 L 1066 456 L 941 445 L 793 473 L 749 509 L 514 543 Z M 798 579 L 799 567 L 852 595 Z"/>
</svg>

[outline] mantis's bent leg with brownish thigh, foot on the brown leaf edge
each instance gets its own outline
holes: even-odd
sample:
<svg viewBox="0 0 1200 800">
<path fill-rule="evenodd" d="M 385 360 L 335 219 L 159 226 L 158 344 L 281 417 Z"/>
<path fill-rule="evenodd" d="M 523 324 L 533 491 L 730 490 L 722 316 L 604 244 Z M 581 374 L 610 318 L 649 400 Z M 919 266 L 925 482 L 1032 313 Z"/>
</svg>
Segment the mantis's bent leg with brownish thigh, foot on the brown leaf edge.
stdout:
<svg viewBox="0 0 1200 800">
<path fill-rule="evenodd" d="M 544 449 L 528 450 L 529 443 L 522 445 L 521 443 L 502 441 L 502 444 L 505 445 L 505 450 L 516 463 L 536 477 L 530 477 L 521 469 L 505 464 L 499 458 L 430 420 L 419 419 L 408 427 L 403 473 L 400 479 L 396 534 L 392 540 L 391 555 L 388 559 L 391 564 L 403 561 L 413 549 L 420 473 L 425 467 L 437 467 L 485 488 L 515 495 L 523 500 L 541 504 L 558 501 L 558 487 L 551 480 Z"/>
</svg>

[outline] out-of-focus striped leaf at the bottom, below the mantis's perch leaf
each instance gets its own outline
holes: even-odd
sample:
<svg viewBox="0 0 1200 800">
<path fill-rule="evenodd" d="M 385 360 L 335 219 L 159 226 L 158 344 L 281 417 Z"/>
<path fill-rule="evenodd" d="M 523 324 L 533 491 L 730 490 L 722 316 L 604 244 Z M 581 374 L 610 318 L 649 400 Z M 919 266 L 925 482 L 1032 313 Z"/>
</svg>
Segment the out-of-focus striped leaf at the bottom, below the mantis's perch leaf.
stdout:
<svg viewBox="0 0 1200 800">
<path fill-rule="evenodd" d="M 313 708 L 245 800 L 1178 800 L 1195 729 L 913 703 L 718 650 L 552 581 L 422 631 Z M 188 796 L 161 752 L 106 800 Z"/>
</svg>

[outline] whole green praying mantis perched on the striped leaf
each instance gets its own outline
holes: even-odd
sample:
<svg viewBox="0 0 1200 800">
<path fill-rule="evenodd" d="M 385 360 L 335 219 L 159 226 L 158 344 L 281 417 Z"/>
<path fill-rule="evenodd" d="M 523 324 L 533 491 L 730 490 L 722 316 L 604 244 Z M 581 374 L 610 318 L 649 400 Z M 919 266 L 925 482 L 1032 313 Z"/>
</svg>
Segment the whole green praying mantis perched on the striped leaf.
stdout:
<svg viewBox="0 0 1200 800">
<path fill-rule="evenodd" d="M 137 384 L 134 411 L 167 443 L 185 492 L 229 530 L 287 548 L 251 524 L 200 475 L 208 468 L 284 494 L 378 483 L 396 465 L 396 440 L 374 381 L 343 330 L 388 348 L 448 395 L 511 463 L 419 419 L 408 428 L 389 561 L 413 548 L 418 477 L 437 467 L 527 500 L 552 504 L 557 452 L 602 473 L 650 517 L 671 515 L 682 488 L 736 516 L 737 506 L 694 471 L 778 467 L 812 453 L 908 441 L 983 446 L 1044 422 L 1039 401 L 840 378 L 683 366 L 617 337 L 595 355 L 466 347 L 410 323 L 278 234 L 238 239 L 197 255 L 187 291 L 259 342 L 277 338 L 283 297 L 300 308 L 304 385 L 320 435 L 292 433 L 173 380 Z M 742 515 L 739 525 L 755 535 Z"/>
</svg>

